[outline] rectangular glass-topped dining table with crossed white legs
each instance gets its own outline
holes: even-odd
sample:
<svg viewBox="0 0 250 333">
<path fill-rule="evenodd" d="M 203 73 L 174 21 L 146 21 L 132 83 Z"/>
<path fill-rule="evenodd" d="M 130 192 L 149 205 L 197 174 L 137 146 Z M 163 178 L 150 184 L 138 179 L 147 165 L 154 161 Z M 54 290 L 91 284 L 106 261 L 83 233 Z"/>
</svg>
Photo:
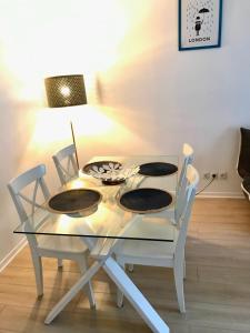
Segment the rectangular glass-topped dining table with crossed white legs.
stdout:
<svg viewBox="0 0 250 333">
<path fill-rule="evenodd" d="M 89 163 L 98 161 L 116 161 L 130 168 L 146 163 L 168 163 L 178 167 L 177 155 L 131 155 L 131 157 L 94 157 Z M 49 324 L 74 297 L 74 295 L 93 278 L 102 268 L 111 280 L 121 290 L 132 306 L 138 311 L 152 332 L 169 332 L 167 323 L 134 285 L 122 268 L 116 262 L 114 251 L 127 240 L 150 242 L 173 242 L 176 226 L 166 219 L 161 223 L 147 229 L 137 224 L 141 214 L 126 209 L 120 204 L 123 194 L 136 189 L 158 189 L 167 191 L 171 196 L 169 204 L 162 213 L 174 210 L 178 171 L 168 175 L 144 175 L 140 172 L 117 185 L 107 185 L 99 179 L 80 171 L 61 191 L 70 189 L 90 189 L 101 193 L 98 210 L 88 216 L 51 213 L 46 205 L 37 208 L 29 219 L 18 225 L 14 233 L 77 236 L 89 248 L 93 263 L 88 271 L 79 278 L 77 283 L 64 294 L 46 317 Z M 146 212 L 158 214 L 157 212 Z M 138 225 L 138 228 L 137 228 Z"/>
</svg>

